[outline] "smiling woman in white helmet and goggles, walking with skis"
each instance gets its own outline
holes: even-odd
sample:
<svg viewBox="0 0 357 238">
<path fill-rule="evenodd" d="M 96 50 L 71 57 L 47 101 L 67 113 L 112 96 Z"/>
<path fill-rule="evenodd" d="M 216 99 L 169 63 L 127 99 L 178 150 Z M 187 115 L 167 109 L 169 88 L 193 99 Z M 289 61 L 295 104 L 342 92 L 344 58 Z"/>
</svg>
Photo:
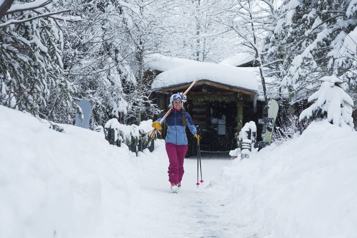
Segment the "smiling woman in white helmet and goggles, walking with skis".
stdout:
<svg viewBox="0 0 357 238">
<path fill-rule="evenodd" d="M 183 97 L 180 93 L 172 95 L 170 97 L 170 107 L 172 111 L 163 121 L 163 123 L 167 123 L 165 147 L 170 162 L 169 171 L 167 171 L 167 173 L 169 173 L 171 190 L 175 193 L 177 193 L 181 187 L 182 176 L 185 172 L 183 170 L 183 159 L 185 158 L 188 147 L 185 133 L 186 126 L 188 126 L 197 140 L 200 140 L 200 136 L 197 137 L 197 130 L 195 125 L 193 125 L 190 114 L 183 109 L 184 102 L 186 102 L 186 96 Z M 165 114 L 152 123 L 152 127 L 156 128 L 156 130 L 161 130 L 160 120 L 164 115 Z"/>
</svg>

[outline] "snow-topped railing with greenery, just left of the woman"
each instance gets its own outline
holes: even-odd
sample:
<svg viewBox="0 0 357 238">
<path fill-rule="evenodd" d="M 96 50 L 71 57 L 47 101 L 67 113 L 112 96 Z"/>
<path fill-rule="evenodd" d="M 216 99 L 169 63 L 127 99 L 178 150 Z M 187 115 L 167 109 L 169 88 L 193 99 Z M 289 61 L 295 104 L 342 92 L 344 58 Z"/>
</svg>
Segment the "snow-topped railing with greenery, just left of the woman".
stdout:
<svg viewBox="0 0 357 238">
<path fill-rule="evenodd" d="M 112 118 L 105 123 L 106 139 L 111 145 L 121 146 L 122 143 L 127 145 L 132 152 L 137 154 L 149 148 L 150 152 L 154 150 L 154 138 L 150 139 L 145 133 L 152 130 L 152 120 L 142 121 L 137 125 L 121 124 L 116 118 Z"/>
</svg>

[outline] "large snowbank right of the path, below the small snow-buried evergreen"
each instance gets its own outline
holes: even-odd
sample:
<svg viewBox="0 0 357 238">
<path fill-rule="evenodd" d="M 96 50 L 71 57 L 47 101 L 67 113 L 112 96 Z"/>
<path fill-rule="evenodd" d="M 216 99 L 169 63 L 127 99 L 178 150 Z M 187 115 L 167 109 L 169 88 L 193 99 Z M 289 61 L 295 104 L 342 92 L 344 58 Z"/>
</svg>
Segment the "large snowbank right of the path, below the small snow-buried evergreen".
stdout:
<svg viewBox="0 0 357 238">
<path fill-rule="evenodd" d="M 260 237 L 355 237 L 357 133 L 313 122 L 279 147 L 263 148 L 223 171 L 232 209 Z"/>
</svg>

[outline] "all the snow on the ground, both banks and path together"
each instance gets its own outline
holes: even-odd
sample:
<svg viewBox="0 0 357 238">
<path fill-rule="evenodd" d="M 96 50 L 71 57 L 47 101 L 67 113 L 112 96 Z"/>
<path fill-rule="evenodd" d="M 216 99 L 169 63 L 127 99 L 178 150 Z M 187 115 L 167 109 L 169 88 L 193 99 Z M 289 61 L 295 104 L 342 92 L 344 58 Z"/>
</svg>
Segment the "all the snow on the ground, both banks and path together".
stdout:
<svg viewBox="0 0 357 238">
<path fill-rule="evenodd" d="M 1 237 L 355 237 L 357 133 L 327 122 L 250 159 L 136 157 L 100 132 L 0 106 Z M 203 156 L 203 158 L 205 158 Z"/>
</svg>

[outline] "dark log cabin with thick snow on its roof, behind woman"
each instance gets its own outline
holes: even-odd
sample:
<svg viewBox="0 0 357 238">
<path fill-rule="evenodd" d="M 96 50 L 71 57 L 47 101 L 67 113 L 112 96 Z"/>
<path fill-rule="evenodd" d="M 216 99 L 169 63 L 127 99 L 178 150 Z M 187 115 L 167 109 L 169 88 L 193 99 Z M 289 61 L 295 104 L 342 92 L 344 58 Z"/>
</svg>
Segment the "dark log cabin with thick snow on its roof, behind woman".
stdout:
<svg viewBox="0 0 357 238">
<path fill-rule="evenodd" d="M 202 151 L 229 151 L 237 148 L 237 133 L 249 121 L 263 117 L 263 102 L 257 100 L 258 82 L 254 74 L 223 64 L 198 62 L 154 54 L 148 63 L 152 78 L 151 99 L 166 112 L 170 96 L 187 93 L 185 110 L 202 131 Z M 154 120 L 160 115 L 154 115 Z M 188 130 L 188 129 L 187 129 Z M 258 128 L 258 131 L 261 128 Z M 187 156 L 196 155 L 196 138 L 188 132 Z M 166 136 L 163 127 L 162 138 Z"/>
</svg>

